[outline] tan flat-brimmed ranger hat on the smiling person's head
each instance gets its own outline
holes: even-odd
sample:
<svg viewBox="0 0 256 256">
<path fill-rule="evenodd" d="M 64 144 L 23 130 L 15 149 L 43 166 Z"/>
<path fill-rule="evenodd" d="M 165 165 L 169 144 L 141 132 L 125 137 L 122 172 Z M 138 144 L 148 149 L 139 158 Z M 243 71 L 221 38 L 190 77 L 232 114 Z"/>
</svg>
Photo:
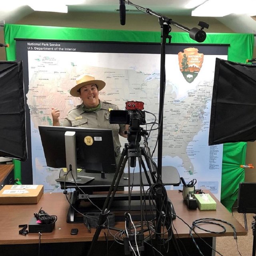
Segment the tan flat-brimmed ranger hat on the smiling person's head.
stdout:
<svg viewBox="0 0 256 256">
<path fill-rule="evenodd" d="M 106 83 L 102 80 L 95 80 L 94 76 L 91 75 L 82 75 L 76 79 L 76 86 L 74 86 L 70 90 L 70 94 L 74 97 L 79 97 L 80 96 L 80 88 L 87 84 L 96 84 L 98 86 L 98 91 L 102 90 Z"/>
</svg>

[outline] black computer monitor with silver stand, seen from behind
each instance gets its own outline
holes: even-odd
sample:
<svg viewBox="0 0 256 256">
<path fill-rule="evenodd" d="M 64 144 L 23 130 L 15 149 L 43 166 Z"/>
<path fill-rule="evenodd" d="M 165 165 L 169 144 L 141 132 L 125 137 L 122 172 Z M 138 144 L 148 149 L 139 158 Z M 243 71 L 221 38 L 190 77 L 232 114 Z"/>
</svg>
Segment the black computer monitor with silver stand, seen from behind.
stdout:
<svg viewBox="0 0 256 256">
<path fill-rule="evenodd" d="M 94 179 L 78 176 L 77 168 L 86 172 L 116 171 L 112 130 L 62 126 L 38 128 L 47 166 L 71 171 L 57 181 L 84 184 Z"/>
</svg>

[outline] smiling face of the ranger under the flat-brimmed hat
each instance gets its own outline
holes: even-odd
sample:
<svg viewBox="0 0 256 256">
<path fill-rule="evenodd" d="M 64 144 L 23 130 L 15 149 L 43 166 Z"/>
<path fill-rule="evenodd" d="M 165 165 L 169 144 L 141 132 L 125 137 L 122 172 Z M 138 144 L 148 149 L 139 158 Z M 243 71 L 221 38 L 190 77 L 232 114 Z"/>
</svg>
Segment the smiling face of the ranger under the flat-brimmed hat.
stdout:
<svg viewBox="0 0 256 256">
<path fill-rule="evenodd" d="M 100 103 L 96 84 L 87 84 L 80 88 L 80 98 L 86 108 L 96 108 Z"/>
</svg>

